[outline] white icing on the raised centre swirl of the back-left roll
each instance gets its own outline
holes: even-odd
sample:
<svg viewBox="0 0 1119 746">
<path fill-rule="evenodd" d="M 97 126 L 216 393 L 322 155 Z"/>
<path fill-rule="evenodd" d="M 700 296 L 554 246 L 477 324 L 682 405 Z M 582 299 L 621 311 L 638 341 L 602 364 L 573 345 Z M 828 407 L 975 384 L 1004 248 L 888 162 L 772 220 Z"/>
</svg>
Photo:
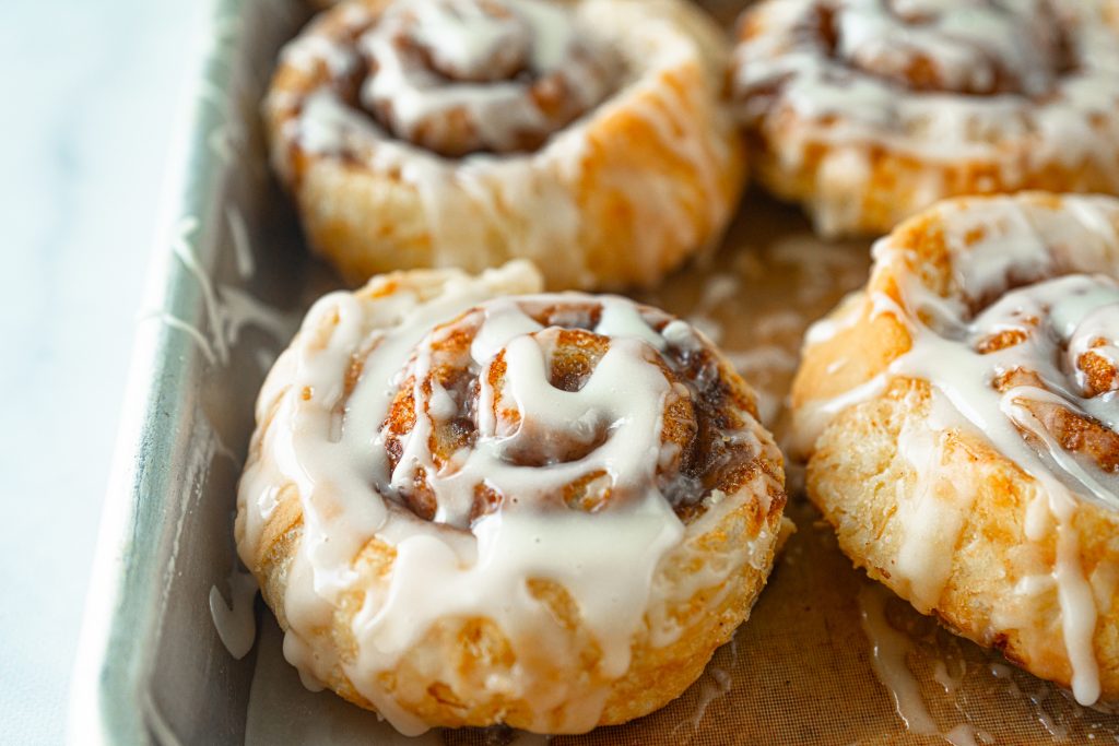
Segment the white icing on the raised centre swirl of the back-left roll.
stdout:
<svg viewBox="0 0 1119 746">
<path fill-rule="evenodd" d="M 542 0 L 396 2 L 358 40 L 373 69 L 361 100 L 388 112 L 393 132 L 407 140 L 444 141 L 446 133 L 431 130 L 452 124 L 459 110 L 479 149 L 513 151 L 520 133 L 553 126 L 532 95 L 539 78 L 555 76 L 549 85 L 573 112 L 606 95 L 608 56 L 585 46 L 570 13 Z"/>
</svg>

